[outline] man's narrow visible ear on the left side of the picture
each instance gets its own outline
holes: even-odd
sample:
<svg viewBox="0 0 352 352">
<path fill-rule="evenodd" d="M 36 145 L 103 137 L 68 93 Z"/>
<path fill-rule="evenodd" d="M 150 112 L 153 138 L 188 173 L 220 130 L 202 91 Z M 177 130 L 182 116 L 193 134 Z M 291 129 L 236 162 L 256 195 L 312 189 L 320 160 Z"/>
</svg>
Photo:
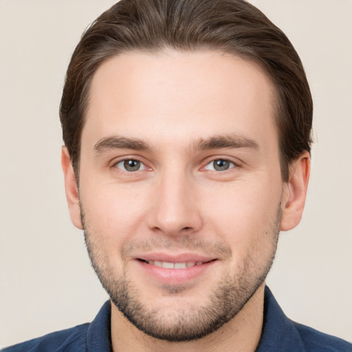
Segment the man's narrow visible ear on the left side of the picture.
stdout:
<svg viewBox="0 0 352 352">
<path fill-rule="evenodd" d="M 74 175 L 74 168 L 72 168 L 72 162 L 69 157 L 69 151 L 65 146 L 63 146 L 61 152 L 61 166 L 63 166 L 66 198 L 72 223 L 74 223 L 76 228 L 83 230 L 82 221 L 80 219 L 80 198 L 78 195 L 76 177 Z"/>
</svg>

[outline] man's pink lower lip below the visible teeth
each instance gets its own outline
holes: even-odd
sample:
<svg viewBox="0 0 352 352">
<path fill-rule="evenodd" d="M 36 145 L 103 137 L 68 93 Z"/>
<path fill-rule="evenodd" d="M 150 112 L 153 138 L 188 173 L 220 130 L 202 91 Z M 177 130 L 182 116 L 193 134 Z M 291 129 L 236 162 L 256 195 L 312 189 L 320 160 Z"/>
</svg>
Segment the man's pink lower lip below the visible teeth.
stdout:
<svg viewBox="0 0 352 352">
<path fill-rule="evenodd" d="M 187 267 L 185 269 L 166 269 L 165 267 L 157 267 L 153 264 L 144 263 L 138 261 L 137 263 L 143 268 L 144 272 L 148 276 L 155 278 L 160 283 L 166 285 L 181 285 L 188 283 L 192 279 L 205 274 L 210 270 L 210 267 L 214 266 L 217 261 L 209 261 L 201 265 L 195 265 L 194 267 Z"/>
</svg>

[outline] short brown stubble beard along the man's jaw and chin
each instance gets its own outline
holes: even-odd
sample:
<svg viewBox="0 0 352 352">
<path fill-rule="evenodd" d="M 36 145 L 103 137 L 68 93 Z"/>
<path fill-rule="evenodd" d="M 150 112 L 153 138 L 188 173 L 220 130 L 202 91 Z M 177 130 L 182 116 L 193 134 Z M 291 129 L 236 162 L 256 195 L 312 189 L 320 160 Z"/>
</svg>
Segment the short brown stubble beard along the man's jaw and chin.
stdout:
<svg viewBox="0 0 352 352">
<path fill-rule="evenodd" d="M 142 293 L 138 292 L 137 287 L 127 277 L 126 267 L 123 274 L 116 277 L 115 270 L 109 266 L 109 259 L 98 250 L 98 236 L 87 230 L 83 207 L 80 208 L 91 265 L 112 303 L 137 329 L 148 336 L 168 342 L 187 342 L 208 336 L 241 311 L 263 284 L 272 267 L 282 214 L 280 204 L 276 219 L 270 228 L 263 232 L 263 236 L 271 243 L 270 255 L 264 262 L 261 259 L 261 262 L 257 263 L 258 259 L 249 253 L 235 274 L 225 273 L 219 283 L 214 285 L 216 287 L 210 293 L 207 303 L 197 306 L 186 305 L 184 309 L 177 307 L 174 311 L 170 311 L 170 307 L 158 307 L 157 302 L 154 307 L 152 303 L 148 305 L 142 303 Z M 203 243 L 201 240 L 193 238 L 185 236 L 181 243 L 177 243 L 177 247 L 181 245 L 184 250 L 204 248 L 205 244 L 201 244 Z M 170 248 L 170 245 L 172 243 L 168 241 L 164 248 L 166 246 Z M 177 296 L 182 290 L 183 287 L 164 286 L 164 293 L 170 296 Z"/>
</svg>

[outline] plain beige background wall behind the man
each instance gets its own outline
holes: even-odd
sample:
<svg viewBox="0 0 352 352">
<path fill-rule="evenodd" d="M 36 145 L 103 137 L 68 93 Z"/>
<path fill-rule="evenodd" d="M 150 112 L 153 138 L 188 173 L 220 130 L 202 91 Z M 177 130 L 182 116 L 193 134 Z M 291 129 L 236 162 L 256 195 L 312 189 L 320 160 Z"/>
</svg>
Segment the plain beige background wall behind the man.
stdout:
<svg viewBox="0 0 352 352">
<path fill-rule="evenodd" d="M 0 346 L 94 319 L 107 295 L 69 220 L 58 104 L 80 34 L 113 0 L 0 0 Z M 314 96 L 302 223 L 267 283 L 286 314 L 352 341 L 352 1 L 253 0 Z"/>
</svg>

